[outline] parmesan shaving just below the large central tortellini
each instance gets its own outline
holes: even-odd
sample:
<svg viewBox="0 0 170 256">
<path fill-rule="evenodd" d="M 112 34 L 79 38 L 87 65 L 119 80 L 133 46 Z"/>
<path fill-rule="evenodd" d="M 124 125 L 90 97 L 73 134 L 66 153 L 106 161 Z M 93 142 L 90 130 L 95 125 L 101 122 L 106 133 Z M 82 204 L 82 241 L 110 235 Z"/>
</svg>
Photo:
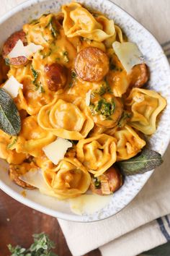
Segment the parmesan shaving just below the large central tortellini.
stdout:
<svg viewBox="0 0 170 256">
<path fill-rule="evenodd" d="M 59 138 L 49 145 L 42 148 L 45 155 L 52 161 L 54 164 L 58 164 L 58 162 L 64 158 L 66 151 L 68 148 L 72 147 L 72 143 L 68 140 Z"/>
</svg>

